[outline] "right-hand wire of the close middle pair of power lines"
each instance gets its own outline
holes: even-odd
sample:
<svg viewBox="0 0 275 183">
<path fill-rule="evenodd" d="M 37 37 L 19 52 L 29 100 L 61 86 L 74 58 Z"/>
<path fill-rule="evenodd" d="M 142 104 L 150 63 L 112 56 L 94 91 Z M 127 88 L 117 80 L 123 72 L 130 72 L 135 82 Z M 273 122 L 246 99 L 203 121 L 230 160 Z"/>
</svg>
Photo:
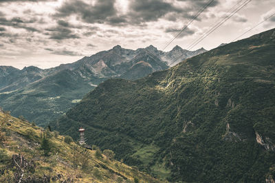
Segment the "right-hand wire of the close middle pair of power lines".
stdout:
<svg viewBox="0 0 275 183">
<path fill-rule="evenodd" d="M 228 16 L 226 16 L 223 20 L 219 21 L 219 23 L 217 23 L 217 25 L 214 25 L 214 27 L 212 27 L 211 29 L 209 29 L 208 32 L 206 32 L 206 34 L 203 34 L 203 36 L 201 36 L 199 39 L 195 40 L 195 42 L 193 42 L 191 45 L 188 46 L 188 48 L 187 48 L 188 51 L 190 51 L 190 49 L 192 49 L 197 44 L 199 44 L 199 42 L 201 42 L 209 34 L 211 34 L 212 32 L 214 32 L 214 30 L 216 30 L 221 25 L 223 25 L 223 23 L 225 23 L 226 21 L 228 21 L 228 19 L 230 19 L 234 14 L 236 14 L 236 12 L 239 12 L 239 10 L 241 10 L 242 8 L 244 8 L 245 5 L 247 5 L 248 3 L 250 3 L 250 1 L 252 1 L 252 0 L 246 0 L 246 1 L 244 1 L 241 5 L 239 5 L 237 8 L 235 8 L 230 14 L 228 14 Z"/>
</svg>

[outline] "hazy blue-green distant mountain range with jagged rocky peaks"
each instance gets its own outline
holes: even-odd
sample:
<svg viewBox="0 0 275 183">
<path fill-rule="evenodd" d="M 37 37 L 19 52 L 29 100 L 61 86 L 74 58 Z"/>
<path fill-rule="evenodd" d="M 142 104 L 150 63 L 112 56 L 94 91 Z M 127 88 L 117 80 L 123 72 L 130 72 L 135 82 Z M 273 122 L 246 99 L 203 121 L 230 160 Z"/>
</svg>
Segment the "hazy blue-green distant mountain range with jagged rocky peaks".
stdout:
<svg viewBox="0 0 275 183">
<path fill-rule="evenodd" d="M 11 110 L 14 116 L 23 115 L 43 125 L 72 108 L 86 93 L 110 77 L 135 80 L 205 51 L 181 49 L 175 56 L 175 49 L 180 48 L 163 52 L 152 45 L 137 50 L 117 45 L 52 69 L 28 66 L 19 70 L 1 66 L 0 106 Z"/>
</svg>

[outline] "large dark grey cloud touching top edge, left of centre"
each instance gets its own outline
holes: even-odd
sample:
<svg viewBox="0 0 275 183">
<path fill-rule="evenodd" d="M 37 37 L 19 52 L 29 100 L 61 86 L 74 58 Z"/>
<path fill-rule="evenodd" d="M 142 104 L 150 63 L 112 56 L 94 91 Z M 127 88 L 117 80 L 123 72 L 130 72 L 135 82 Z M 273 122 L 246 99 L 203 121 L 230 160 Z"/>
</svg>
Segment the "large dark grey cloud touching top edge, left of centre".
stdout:
<svg viewBox="0 0 275 183">
<path fill-rule="evenodd" d="M 114 3 L 115 0 L 98 0 L 94 5 L 80 0 L 65 1 L 61 8 L 57 9 L 55 16 L 65 17 L 76 14 L 86 23 L 104 23 L 107 19 L 115 17 Z"/>
</svg>

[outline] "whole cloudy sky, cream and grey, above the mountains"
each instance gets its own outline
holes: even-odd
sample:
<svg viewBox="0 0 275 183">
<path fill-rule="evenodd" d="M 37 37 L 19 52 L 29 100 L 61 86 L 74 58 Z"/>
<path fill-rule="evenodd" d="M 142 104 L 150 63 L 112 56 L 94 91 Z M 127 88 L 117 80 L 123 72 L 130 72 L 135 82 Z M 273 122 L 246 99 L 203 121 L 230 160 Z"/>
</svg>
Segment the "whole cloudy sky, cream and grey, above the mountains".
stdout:
<svg viewBox="0 0 275 183">
<path fill-rule="evenodd" d="M 214 0 L 188 25 L 210 0 L 0 0 L 0 65 L 46 69 L 115 45 L 163 50 L 184 25 L 164 51 L 187 49 L 244 1 Z M 192 50 L 232 42 L 274 13 L 274 0 L 252 0 Z M 272 28 L 275 16 L 241 38 Z"/>
</svg>

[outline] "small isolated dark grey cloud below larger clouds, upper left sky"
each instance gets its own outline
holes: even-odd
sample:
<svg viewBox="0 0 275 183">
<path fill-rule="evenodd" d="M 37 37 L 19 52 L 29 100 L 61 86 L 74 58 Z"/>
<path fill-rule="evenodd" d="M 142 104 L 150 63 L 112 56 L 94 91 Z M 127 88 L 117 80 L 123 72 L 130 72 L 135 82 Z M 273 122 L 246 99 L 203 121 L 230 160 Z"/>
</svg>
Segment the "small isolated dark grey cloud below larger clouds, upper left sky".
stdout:
<svg viewBox="0 0 275 183">
<path fill-rule="evenodd" d="M 70 38 L 80 38 L 77 34 L 74 34 L 72 30 L 64 27 L 54 27 L 46 29 L 45 35 L 50 36 L 50 39 L 63 40 Z"/>
</svg>

